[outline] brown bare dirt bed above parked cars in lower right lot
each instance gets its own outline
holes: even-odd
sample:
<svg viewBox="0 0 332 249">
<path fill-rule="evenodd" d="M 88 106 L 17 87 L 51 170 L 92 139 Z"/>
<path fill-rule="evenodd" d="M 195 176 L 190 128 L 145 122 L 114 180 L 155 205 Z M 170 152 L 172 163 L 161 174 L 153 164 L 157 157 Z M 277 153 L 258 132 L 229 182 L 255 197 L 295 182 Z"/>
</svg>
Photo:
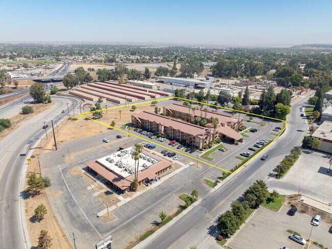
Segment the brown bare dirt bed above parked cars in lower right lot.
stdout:
<svg viewBox="0 0 332 249">
<path fill-rule="evenodd" d="M 329 213 L 326 213 L 320 209 L 314 208 L 312 206 L 309 206 L 303 202 L 300 202 L 301 195 L 297 195 L 297 194 L 292 194 L 292 195 L 287 195 L 284 199 L 283 199 L 283 204 L 291 207 L 292 205 L 294 205 L 298 212 L 302 212 L 302 213 L 306 213 L 307 215 L 310 215 L 312 217 L 314 217 L 316 214 L 319 214 L 322 217 L 322 220 L 324 220 L 327 223 L 332 224 L 332 215 L 330 215 Z"/>
</svg>

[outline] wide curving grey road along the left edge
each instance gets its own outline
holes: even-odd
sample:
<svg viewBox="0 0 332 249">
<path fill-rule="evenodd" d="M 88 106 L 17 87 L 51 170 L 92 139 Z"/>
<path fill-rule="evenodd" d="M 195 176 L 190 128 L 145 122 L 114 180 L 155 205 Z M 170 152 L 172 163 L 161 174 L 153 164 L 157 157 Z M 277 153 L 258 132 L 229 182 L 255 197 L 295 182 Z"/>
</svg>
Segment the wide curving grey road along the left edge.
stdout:
<svg viewBox="0 0 332 249">
<path fill-rule="evenodd" d="M 29 119 L 20 127 L 13 130 L 7 137 L 0 141 L 0 248 L 27 248 L 23 234 L 23 224 L 21 212 L 24 215 L 24 206 L 21 209 L 22 195 L 20 192 L 21 176 L 26 156 L 19 156 L 22 147 L 27 140 L 34 140 L 36 146 L 38 140 L 43 139 L 45 131 L 41 129 L 42 121 L 46 118 L 50 120 L 53 116 L 58 123 L 66 117 L 67 113 L 61 114 L 62 109 L 66 109 L 69 104 L 73 110 L 73 105 L 79 106 L 79 100 L 66 97 L 53 97 L 57 104 L 48 110 Z M 50 121 L 49 121 L 50 122 Z M 50 124 L 49 124 L 50 125 Z M 22 211 L 23 210 L 23 211 Z"/>
</svg>

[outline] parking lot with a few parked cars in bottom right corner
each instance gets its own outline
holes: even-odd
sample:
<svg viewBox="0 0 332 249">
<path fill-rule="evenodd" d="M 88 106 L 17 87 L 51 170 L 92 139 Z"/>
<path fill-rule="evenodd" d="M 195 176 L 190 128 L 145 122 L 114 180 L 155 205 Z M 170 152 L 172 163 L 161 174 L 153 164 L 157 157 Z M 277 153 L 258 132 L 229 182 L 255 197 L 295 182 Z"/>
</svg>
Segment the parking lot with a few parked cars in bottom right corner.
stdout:
<svg viewBox="0 0 332 249">
<path fill-rule="evenodd" d="M 310 236 L 311 239 L 325 246 L 332 245 L 332 234 L 328 233 L 330 224 L 323 221 L 318 227 L 310 224 L 311 216 L 297 212 L 294 216 L 287 215 L 289 208 L 282 206 L 279 212 L 266 208 L 259 210 L 251 217 L 243 229 L 229 243 L 233 249 L 243 248 L 302 248 L 301 244 L 289 239 L 288 229 L 301 234 L 304 239 Z M 314 245 L 312 245 L 314 246 Z"/>
</svg>

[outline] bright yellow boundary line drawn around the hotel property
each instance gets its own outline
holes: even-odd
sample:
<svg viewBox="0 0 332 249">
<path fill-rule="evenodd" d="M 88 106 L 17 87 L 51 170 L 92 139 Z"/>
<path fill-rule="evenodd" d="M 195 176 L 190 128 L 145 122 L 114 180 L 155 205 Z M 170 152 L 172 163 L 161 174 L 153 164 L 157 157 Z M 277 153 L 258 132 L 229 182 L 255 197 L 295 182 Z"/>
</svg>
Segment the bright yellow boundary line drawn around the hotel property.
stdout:
<svg viewBox="0 0 332 249">
<path fill-rule="evenodd" d="M 185 101 L 189 101 L 189 102 L 194 102 L 194 103 L 199 103 L 199 104 L 203 104 L 203 105 L 214 106 L 214 107 L 223 108 L 223 109 L 227 109 L 227 110 L 231 110 L 231 111 L 242 112 L 243 114 L 249 114 L 249 115 L 253 115 L 253 116 L 258 116 L 258 117 L 262 117 L 262 118 L 273 119 L 273 120 L 277 120 L 277 121 L 283 122 L 283 123 L 284 123 L 284 127 L 283 127 L 283 129 L 279 132 L 279 134 L 277 135 L 277 137 L 276 137 L 274 140 L 272 140 L 272 141 L 270 142 L 270 144 L 273 143 L 273 142 L 274 142 L 274 141 L 275 141 L 275 140 L 276 140 L 276 139 L 282 134 L 282 132 L 286 129 L 286 125 L 287 125 L 287 122 L 284 121 L 284 120 L 275 119 L 275 118 L 270 118 L 270 117 L 266 117 L 266 116 L 262 116 L 262 115 L 258 115 L 258 114 L 251 114 L 250 112 L 246 112 L 246 111 L 234 110 L 234 109 L 231 109 L 231 108 L 226 108 L 226 107 L 222 107 L 222 106 L 212 105 L 212 104 L 208 104 L 208 103 L 202 103 L 202 102 L 198 102 L 198 101 L 194 101 L 194 100 L 188 100 L 188 99 L 183 99 L 183 98 L 178 98 L 178 97 L 167 97 L 167 98 L 158 99 L 157 101 L 164 101 L 164 100 L 168 100 L 168 99 L 185 100 Z M 230 173 L 230 174 L 233 174 L 233 173 L 235 173 L 236 171 L 238 171 L 239 169 L 241 169 L 245 164 L 249 163 L 252 159 L 256 158 L 256 156 L 257 156 L 258 154 L 260 154 L 262 151 L 264 151 L 264 150 L 267 148 L 267 147 L 264 147 L 264 148 L 263 148 L 262 150 L 260 150 L 257 154 L 255 154 L 251 159 L 249 159 L 246 163 L 244 163 L 241 167 L 239 167 L 238 169 L 236 169 L 234 172 L 231 172 L 231 171 L 229 171 L 229 170 L 223 169 L 223 168 L 218 167 L 218 166 L 216 166 L 216 165 L 213 165 L 213 164 L 210 164 L 210 163 L 204 162 L 204 161 L 202 161 L 202 160 L 200 160 L 200 159 L 197 159 L 197 158 L 195 158 L 195 157 L 193 157 L 193 156 L 186 155 L 186 154 L 181 153 L 181 152 L 179 152 L 179 151 L 177 151 L 177 150 L 173 150 L 173 149 L 171 149 L 171 148 L 168 148 L 168 147 L 165 147 L 165 146 L 163 146 L 163 145 L 160 145 L 160 144 L 154 143 L 154 142 L 152 142 L 152 141 L 150 141 L 150 140 L 147 140 L 147 139 L 145 139 L 145 138 L 139 137 L 138 135 L 135 135 L 134 133 L 130 133 L 130 132 L 127 132 L 127 131 L 125 131 L 125 130 L 123 130 L 123 129 L 116 128 L 116 127 L 113 127 L 113 126 L 110 126 L 109 124 L 105 124 L 105 123 L 103 123 L 103 122 L 101 122 L 101 121 L 98 121 L 98 120 L 95 120 L 95 119 L 92 119 L 92 118 L 86 117 L 86 116 L 84 115 L 84 114 L 90 114 L 90 113 L 92 113 L 92 112 L 96 112 L 96 111 L 110 110 L 110 109 L 122 108 L 122 107 L 127 107 L 127 106 L 133 106 L 133 105 L 141 105 L 141 104 L 145 104 L 145 103 L 151 103 L 151 102 L 153 102 L 153 101 L 156 101 L 156 100 L 149 100 L 149 101 L 144 101 L 144 102 L 139 102 L 139 103 L 133 103 L 133 104 L 126 104 L 126 105 L 121 105 L 121 106 L 114 106 L 114 107 L 110 107 L 110 108 L 106 108 L 106 109 L 101 109 L 101 110 L 86 111 L 86 112 L 82 112 L 81 114 L 78 114 L 78 115 L 81 116 L 81 117 L 84 117 L 84 118 L 86 118 L 86 119 L 93 120 L 93 121 L 95 121 L 95 122 L 97 122 L 97 123 L 100 123 L 100 124 L 102 124 L 102 125 L 108 126 L 108 127 L 112 128 L 112 129 L 116 129 L 116 130 L 118 130 L 118 131 L 121 131 L 121 132 L 127 133 L 127 134 L 129 134 L 129 135 L 132 135 L 133 137 L 136 137 L 136 138 L 139 138 L 139 139 L 141 139 L 141 140 L 147 141 L 147 142 L 149 142 L 150 144 L 154 144 L 154 145 L 156 145 L 156 146 L 160 146 L 160 147 L 162 147 L 162 148 L 165 148 L 165 149 L 168 149 L 168 150 L 174 151 L 174 152 L 176 152 L 176 153 L 179 153 L 179 154 L 181 154 L 181 155 L 184 155 L 184 156 L 186 156 L 186 157 L 189 157 L 189 158 L 191 158 L 191 159 L 193 159 L 193 160 L 195 160 L 195 161 L 199 161 L 199 162 L 204 163 L 204 164 L 207 164 L 207 165 L 209 165 L 209 166 L 212 166 L 212 167 L 218 168 L 218 169 L 223 170 L 223 171 L 225 171 L 225 172 L 228 172 L 228 173 Z"/>
</svg>

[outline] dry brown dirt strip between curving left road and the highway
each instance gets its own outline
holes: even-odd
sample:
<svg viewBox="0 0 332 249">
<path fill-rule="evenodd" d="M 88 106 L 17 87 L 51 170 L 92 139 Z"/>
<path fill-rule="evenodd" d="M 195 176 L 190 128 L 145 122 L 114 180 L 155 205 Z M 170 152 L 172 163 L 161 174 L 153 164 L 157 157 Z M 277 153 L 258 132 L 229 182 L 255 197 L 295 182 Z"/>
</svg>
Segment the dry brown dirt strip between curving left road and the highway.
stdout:
<svg viewBox="0 0 332 249">
<path fill-rule="evenodd" d="M 54 105 L 55 102 L 52 103 L 48 103 L 48 104 L 34 104 L 31 105 L 34 109 L 34 113 L 33 114 L 26 114 L 26 115 L 22 115 L 22 114 L 18 114 L 15 117 L 11 118 L 10 121 L 12 122 L 12 126 L 3 130 L 0 133 L 0 140 L 2 140 L 4 137 L 6 137 L 10 132 L 12 132 L 13 130 L 15 130 L 17 127 L 20 126 L 21 123 L 31 119 L 32 117 L 36 116 L 37 114 L 40 114 L 40 112 L 48 109 L 50 106 Z M 40 124 L 41 125 L 41 124 Z"/>
</svg>

